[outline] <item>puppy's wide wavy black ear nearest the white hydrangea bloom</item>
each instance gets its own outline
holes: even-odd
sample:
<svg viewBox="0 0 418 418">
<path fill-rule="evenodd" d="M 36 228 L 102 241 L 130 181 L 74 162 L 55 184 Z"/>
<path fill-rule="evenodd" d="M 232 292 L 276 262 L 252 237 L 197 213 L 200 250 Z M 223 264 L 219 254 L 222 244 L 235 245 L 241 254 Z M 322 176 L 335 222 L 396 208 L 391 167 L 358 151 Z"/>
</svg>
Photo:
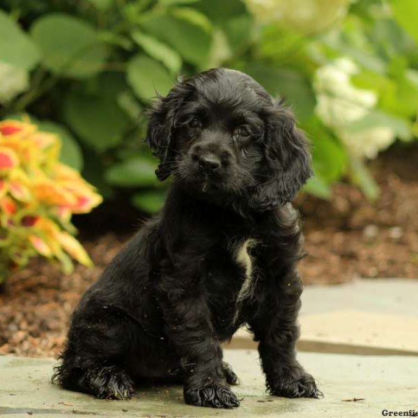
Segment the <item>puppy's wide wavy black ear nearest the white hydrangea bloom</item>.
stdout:
<svg viewBox="0 0 418 418">
<path fill-rule="evenodd" d="M 312 175 L 309 143 L 291 111 L 274 103 L 265 113 L 264 153 L 268 180 L 261 179 L 258 208 L 269 210 L 293 201 Z"/>
</svg>

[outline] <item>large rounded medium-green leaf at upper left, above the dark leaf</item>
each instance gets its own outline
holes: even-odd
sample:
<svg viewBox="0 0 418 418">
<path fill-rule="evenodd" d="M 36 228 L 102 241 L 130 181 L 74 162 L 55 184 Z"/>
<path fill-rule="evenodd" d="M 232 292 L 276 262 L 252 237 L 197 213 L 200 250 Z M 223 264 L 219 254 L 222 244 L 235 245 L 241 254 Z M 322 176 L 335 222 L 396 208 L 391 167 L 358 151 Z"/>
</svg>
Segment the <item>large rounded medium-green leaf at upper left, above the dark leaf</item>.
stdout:
<svg viewBox="0 0 418 418">
<path fill-rule="evenodd" d="M 103 68 L 107 50 L 95 28 L 84 20 L 59 13 L 40 17 L 31 26 L 46 68 L 72 78 L 91 77 Z"/>
</svg>

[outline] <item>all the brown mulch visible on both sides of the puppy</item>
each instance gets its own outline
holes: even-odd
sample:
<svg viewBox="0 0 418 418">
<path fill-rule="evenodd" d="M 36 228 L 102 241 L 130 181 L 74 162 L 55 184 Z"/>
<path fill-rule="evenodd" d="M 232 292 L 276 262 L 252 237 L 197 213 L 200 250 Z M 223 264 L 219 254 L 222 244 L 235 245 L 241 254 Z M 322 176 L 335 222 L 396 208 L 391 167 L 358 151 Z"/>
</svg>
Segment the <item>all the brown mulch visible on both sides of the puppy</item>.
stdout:
<svg viewBox="0 0 418 418">
<path fill-rule="evenodd" d="M 301 264 L 305 284 L 418 279 L 418 146 L 392 149 L 371 169 L 381 187 L 376 203 L 346 184 L 334 187 L 332 201 L 297 199 L 308 251 Z M 95 267 L 78 266 L 70 276 L 42 260 L 14 274 L 0 295 L 0 354 L 58 355 L 79 297 L 127 238 L 110 232 L 84 240 Z"/>
</svg>

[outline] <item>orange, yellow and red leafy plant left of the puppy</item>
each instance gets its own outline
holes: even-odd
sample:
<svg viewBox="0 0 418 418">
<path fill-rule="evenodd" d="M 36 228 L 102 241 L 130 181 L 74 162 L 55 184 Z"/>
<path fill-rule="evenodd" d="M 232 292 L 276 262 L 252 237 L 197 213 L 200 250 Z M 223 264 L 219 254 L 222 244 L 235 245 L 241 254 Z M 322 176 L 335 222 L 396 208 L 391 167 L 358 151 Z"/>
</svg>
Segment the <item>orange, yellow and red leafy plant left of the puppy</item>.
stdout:
<svg viewBox="0 0 418 418">
<path fill-rule="evenodd" d="M 91 265 L 70 219 L 102 199 L 58 161 L 60 148 L 56 134 L 29 121 L 0 123 L 0 283 L 36 254 L 59 261 L 64 272 L 72 270 L 70 256 Z"/>
</svg>

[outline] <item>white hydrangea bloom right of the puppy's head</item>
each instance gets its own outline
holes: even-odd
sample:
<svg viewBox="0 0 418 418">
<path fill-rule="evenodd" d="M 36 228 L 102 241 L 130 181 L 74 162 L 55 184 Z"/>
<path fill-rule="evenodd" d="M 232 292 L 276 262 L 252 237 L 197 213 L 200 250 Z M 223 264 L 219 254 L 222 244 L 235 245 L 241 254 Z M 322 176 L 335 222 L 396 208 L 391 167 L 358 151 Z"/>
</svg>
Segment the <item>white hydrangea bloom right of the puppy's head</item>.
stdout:
<svg viewBox="0 0 418 418">
<path fill-rule="evenodd" d="M 396 139 L 387 126 L 368 127 L 350 132 L 350 123 L 370 114 L 376 107 L 378 95 L 371 90 L 353 86 L 350 77 L 358 72 L 350 59 L 337 59 L 318 68 L 315 75 L 316 114 L 331 127 L 353 155 L 374 158 Z"/>
</svg>

